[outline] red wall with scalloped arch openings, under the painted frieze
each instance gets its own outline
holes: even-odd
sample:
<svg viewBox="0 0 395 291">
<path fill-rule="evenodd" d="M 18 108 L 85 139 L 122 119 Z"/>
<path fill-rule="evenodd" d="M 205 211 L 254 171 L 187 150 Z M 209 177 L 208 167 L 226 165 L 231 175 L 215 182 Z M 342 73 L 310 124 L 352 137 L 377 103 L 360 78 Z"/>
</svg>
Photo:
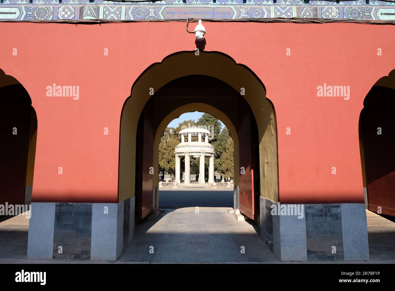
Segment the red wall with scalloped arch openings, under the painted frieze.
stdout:
<svg viewBox="0 0 395 291">
<path fill-rule="evenodd" d="M 275 106 L 280 201 L 362 203 L 358 119 L 369 89 L 395 68 L 395 26 L 204 25 L 205 50 L 249 67 Z M 178 22 L 1 23 L 0 29 L 0 68 L 23 84 L 37 112 L 33 201 L 117 202 L 122 105 L 143 70 L 194 50 L 194 36 Z M 53 83 L 80 86 L 79 100 L 47 97 Z M 350 86 L 350 100 L 317 97 L 324 83 Z"/>
</svg>

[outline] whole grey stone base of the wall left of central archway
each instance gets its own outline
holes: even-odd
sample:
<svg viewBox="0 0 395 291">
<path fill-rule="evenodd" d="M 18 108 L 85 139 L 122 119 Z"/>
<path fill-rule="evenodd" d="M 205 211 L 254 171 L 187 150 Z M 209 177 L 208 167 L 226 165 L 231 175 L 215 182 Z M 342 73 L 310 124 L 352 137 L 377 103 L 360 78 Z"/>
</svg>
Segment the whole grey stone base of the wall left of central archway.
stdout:
<svg viewBox="0 0 395 291">
<path fill-rule="evenodd" d="M 114 262 L 134 238 L 134 211 L 134 197 L 120 203 L 32 203 L 28 258 Z"/>
</svg>

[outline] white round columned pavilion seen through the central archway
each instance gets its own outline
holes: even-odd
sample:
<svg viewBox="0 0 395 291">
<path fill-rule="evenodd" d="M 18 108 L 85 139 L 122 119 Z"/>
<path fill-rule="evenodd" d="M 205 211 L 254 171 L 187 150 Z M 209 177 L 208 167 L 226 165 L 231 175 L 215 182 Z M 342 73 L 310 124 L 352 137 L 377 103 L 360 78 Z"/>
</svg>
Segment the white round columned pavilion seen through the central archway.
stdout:
<svg viewBox="0 0 395 291">
<path fill-rule="evenodd" d="M 186 128 L 182 129 L 181 143 L 175 147 L 175 182 L 181 183 L 181 157 L 185 156 L 185 181 L 184 184 L 190 184 L 190 157 L 199 158 L 199 184 L 205 183 L 204 177 L 204 157 L 209 156 L 209 181 L 214 182 L 214 146 L 209 143 L 210 131 L 204 128 Z M 192 141 L 192 135 L 198 134 L 198 141 Z M 185 141 L 185 137 L 188 141 Z M 204 141 L 202 141 L 204 137 Z"/>
</svg>

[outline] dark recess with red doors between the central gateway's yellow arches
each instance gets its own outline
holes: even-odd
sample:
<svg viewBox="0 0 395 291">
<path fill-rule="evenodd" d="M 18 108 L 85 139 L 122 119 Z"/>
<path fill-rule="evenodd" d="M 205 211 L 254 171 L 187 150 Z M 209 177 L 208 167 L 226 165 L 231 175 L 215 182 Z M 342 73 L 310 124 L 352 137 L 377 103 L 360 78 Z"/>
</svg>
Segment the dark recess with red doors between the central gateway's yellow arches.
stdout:
<svg viewBox="0 0 395 291">
<path fill-rule="evenodd" d="M 258 127 L 254 114 L 240 92 L 221 80 L 204 75 L 184 76 L 162 86 L 141 113 L 136 139 L 136 218 L 143 219 L 152 211 L 154 175 L 149 175 L 146 169 L 153 162 L 153 142 L 158 126 L 176 108 L 196 102 L 218 108 L 233 123 L 239 135 L 240 165 L 248 173 L 240 177 L 240 209 L 246 205 L 243 210 L 245 214 L 256 219 L 259 212 L 260 176 Z"/>
</svg>

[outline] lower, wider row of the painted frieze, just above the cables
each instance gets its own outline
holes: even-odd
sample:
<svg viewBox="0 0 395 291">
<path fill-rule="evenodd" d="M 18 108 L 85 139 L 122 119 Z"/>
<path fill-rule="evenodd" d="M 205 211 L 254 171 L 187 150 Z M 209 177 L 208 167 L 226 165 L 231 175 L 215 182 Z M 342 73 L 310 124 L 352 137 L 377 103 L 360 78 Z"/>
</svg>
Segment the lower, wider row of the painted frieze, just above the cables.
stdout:
<svg viewBox="0 0 395 291">
<path fill-rule="evenodd" d="M 7 0 L 27 1 L 27 0 Z M 38 0 L 36 0 L 38 1 Z M 75 0 L 85 1 L 85 0 Z M 173 1 L 173 0 L 168 0 Z M 180 0 L 182 1 L 182 0 Z M 201 0 L 199 0 L 201 1 Z M 230 0 L 229 0 L 230 1 Z M 237 0 L 235 0 L 237 1 Z M 47 2 L 47 1 L 46 1 Z M 278 1 L 280 2 L 280 0 Z M 295 2 L 287 0 L 287 2 Z M 318 1 L 319 2 L 319 1 Z M 325 1 L 320 1 L 325 2 Z M 366 2 L 366 1 L 354 1 Z M 352 2 L 352 3 L 354 3 Z M 379 2 L 379 1 L 372 1 Z M 333 2 L 335 3 L 335 2 Z M 340 2 L 346 3 L 346 2 Z M 384 2 L 381 2 L 384 4 Z M 358 21 L 395 20 L 395 3 L 390 6 L 252 6 L 252 5 L 5 5 L 0 4 L 0 19 L 8 21 L 58 20 L 177 20 L 177 19 L 352 19 Z"/>
</svg>

